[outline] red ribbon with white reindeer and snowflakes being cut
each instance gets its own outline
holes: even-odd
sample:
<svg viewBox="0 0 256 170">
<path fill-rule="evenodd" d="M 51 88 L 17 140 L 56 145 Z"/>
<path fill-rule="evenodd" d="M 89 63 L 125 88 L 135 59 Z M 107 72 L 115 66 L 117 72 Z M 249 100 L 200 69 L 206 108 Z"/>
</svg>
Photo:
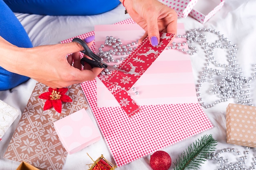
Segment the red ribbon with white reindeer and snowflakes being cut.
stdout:
<svg viewBox="0 0 256 170">
<path fill-rule="evenodd" d="M 149 66 L 157 59 L 159 54 L 168 46 L 175 34 L 160 33 L 160 41 L 157 46 L 152 46 L 148 37 L 121 63 L 118 68 L 124 72 L 112 71 L 109 75 L 99 75 L 99 79 L 115 96 L 120 106 L 126 111 L 129 117 L 140 111 L 128 93 L 128 90 L 140 78 Z"/>
</svg>

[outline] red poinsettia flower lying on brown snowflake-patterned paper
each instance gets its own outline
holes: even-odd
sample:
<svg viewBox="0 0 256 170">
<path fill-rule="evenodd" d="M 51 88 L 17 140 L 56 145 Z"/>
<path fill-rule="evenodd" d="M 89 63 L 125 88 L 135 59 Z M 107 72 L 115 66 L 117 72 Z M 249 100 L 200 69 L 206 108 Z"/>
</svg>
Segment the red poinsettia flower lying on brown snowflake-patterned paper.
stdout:
<svg viewBox="0 0 256 170">
<path fill-rule="evenodd" d="M 67 88 L 53 89 L 49 87 L 48 92 L 45 92 L 39 96 L 41 99 L 45 99 L 44 110 L 54 107 L 58 113 L 61 113 L 62 102 L 72 102 L 72 99 L 65 95 Z"/>
</svg>

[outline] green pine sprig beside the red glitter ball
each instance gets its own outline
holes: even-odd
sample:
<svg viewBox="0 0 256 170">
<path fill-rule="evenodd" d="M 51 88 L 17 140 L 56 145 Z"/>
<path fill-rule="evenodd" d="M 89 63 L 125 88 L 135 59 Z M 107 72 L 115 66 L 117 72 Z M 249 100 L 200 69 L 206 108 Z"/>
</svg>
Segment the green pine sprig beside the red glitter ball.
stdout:
<svg viewBox="0 0 256 170">
<path fill-rule="evenodd" d="M 179 156 L 178 161 L 174 163 L 174 170 L 199 169 L 201 163 L 206 161 L 209 153 L 216 149 L 217 141 L 212 135 L 204 135 L 201 139 L 197 139 L 195 143 L 190 144 L 186 152 Z"/>
</svg>

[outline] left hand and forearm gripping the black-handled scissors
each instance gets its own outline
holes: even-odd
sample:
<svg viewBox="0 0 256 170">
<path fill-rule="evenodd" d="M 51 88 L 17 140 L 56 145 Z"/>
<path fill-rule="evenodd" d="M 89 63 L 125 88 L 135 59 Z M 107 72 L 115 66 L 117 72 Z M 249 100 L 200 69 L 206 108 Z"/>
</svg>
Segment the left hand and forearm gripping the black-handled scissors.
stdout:
<svg viewBox="0 0 256 170">
<path fill-rule="evenodd" d="M 91 44 L 92 42 L 88 46 Z M 18 48 L 0 37 L 0 49 L 2 50 L 0 66 L 52 88 L 94 80 L 103 70 L 91 68 L 90 65 L 86 65 L 84 70 L 81 70 L 79 51 L 83 50 L 83 47 L 76 42 Z M 70 53 L 73 54 L 66 57 Z M 72 60 L 74 66 L 72 66 Z"/>
</svg>

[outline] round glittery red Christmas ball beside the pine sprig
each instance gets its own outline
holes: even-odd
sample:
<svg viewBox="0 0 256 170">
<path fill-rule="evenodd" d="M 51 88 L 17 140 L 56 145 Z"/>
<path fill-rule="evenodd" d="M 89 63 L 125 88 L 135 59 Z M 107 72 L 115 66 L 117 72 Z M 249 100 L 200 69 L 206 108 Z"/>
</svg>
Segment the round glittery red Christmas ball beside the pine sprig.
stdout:
<svg viewBox="0 0 256 170">
<path fill-rule="evenodd" d="M 150 166 L 153 170 L 168 170 L 171 162 L 170 155 L 162 150 L 156 151 L 150 156 Z"/>
</svg>

